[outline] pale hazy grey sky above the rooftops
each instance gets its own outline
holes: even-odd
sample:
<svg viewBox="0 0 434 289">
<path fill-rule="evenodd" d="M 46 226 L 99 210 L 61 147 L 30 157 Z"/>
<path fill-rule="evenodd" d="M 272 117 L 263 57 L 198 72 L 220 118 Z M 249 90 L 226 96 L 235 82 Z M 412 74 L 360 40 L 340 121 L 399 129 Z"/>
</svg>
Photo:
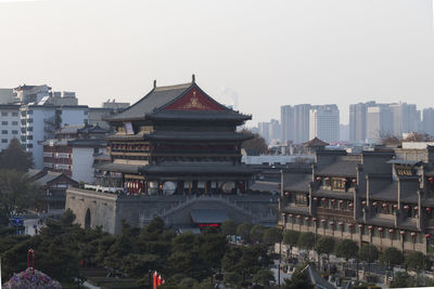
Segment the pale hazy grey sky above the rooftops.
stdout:
<svg viewBox="0 0 434 289">
<path fill-rule="evenodd" d="M 0 88 L 50 84 L 80 104 L 188 82 L 253 115 L 285 104 L 434 106 L 431 0 L 0 0 Z"/>
</svg>

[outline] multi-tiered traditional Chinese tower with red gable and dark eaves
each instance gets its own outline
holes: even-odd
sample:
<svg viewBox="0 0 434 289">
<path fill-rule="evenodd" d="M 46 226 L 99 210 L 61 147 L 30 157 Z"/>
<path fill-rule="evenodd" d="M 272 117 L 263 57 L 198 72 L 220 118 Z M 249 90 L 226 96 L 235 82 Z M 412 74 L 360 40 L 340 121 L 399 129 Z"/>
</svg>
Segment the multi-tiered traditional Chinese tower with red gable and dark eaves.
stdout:
<svg viewBox="0 0 434 289">
<path fill-rule="evenodd" d="M 156 87 L 108 119 L 112 163 L 100 167 L 99 183 L 133 194 L 235 194 L 245 192 L 252 170 L 241 165 L 237 132 L 252 116 L 207 95 L 194 80 Z"/>
</svg>

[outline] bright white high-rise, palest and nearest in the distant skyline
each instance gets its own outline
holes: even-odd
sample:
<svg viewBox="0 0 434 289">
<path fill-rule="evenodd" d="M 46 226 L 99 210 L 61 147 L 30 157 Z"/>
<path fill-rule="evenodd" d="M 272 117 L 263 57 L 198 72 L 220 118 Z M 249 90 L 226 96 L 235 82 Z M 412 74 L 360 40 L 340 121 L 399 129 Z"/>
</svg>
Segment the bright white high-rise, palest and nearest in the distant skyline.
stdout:
<svg viewBox="0 0 434 289">
<path fill-rule="evenodd" d="M 317 105 L 310 109 L 309 139 L 324 142 L 340 141 L 340 111 L 337 105 Z"/>
</svg>

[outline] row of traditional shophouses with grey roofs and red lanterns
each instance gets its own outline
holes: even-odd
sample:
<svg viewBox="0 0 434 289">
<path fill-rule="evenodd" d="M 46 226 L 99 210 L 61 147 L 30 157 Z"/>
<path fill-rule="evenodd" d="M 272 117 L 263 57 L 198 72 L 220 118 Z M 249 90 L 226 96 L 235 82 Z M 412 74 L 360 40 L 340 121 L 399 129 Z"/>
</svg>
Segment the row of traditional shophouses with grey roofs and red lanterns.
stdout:
<svg viewBox="0 0 434 289">
<path fill-rule="evenodd" d="M 279 223 L 426 253 L 434 245 L 433 188 L 434 147 L 319 149 L 310 169 L 282 171 Z"/>
</svg>

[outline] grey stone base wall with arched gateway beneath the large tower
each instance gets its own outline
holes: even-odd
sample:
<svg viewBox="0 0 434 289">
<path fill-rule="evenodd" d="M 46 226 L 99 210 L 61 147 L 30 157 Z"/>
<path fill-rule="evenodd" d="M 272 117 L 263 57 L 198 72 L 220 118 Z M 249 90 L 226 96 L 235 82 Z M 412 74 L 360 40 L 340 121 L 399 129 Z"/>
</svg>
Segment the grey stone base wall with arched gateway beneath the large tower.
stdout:
<svg viewBox="0 0 434 289">
<path fill-rule="evenodd" d="M 102 226 L 111 234 L 120 232 L 120 220 L 140 227 L 156 215 L 174 227 L 192 226 L 191 210 L 197 209 L 225 210 L 240 223 L 276 224 L 277 206 L 271 195 L 126 196 L 75 187 L 67 189 L 65 203 L 82 227 Z"/>
</svg>

